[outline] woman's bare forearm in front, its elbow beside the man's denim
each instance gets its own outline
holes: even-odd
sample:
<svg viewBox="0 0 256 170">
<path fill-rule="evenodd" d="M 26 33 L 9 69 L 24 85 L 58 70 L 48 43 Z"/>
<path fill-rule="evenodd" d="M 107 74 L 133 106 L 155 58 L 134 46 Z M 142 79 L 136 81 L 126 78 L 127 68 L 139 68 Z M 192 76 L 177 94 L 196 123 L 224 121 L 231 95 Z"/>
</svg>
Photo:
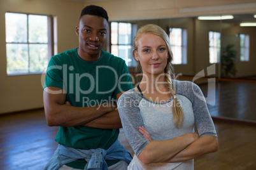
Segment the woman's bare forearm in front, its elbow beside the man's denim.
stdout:
<svg viewBox="0 0 256 170">
<path fill-rule="evenodd" d="M 174 155 L 196 141 L 197 138 L 196 133 L 187 133 L 171 140 L 150 141 L 138 155 L 138 158 L 144 164 L 167 162 L 167 160 L 170 160 Z"/>
</svg>

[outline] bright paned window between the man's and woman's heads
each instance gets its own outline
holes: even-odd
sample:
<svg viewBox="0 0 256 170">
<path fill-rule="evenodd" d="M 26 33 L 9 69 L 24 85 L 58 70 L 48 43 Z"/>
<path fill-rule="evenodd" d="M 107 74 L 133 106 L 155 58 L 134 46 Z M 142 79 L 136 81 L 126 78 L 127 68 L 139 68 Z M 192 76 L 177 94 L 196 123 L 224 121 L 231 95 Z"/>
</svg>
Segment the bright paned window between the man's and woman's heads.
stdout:
<svg viewBox="0 0 256 170">
<path fill-rule="evenodd" d="M 111 54 L 125 60 L 128 67 L 135 67 L 132 43 L 136 27 L 132 23 L 111 22 Z"/>
</svg>

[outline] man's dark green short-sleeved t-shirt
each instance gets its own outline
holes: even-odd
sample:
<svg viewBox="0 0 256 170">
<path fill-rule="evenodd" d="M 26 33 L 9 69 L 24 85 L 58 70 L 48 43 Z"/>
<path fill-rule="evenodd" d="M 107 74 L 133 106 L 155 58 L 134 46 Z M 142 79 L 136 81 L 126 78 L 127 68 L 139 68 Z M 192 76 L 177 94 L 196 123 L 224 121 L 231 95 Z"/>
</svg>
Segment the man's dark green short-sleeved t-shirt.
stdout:
<svg viewBox="0 0 256 170">
<path fill-rule="evenodd" d="M 102 50 L 96 62 L 82 60 L 75 49 L 52 56 L 45 77 L 45 87 L 66 91 L 66 101 L 75 107 L 90 107 L 114 103 L 122 91 L 132 89 L 131 77 L 125 61 Z M 119 129 L 98 129 L 85 126 L 59 127 L 55 138 L 66 147 L 89 150 L 108 149 L 118 138 Z M 108 166 L 118 160 L 106 161 Z M 76 160 L 68 166 L 83 169 L 85 160 Z"/>
</svg>

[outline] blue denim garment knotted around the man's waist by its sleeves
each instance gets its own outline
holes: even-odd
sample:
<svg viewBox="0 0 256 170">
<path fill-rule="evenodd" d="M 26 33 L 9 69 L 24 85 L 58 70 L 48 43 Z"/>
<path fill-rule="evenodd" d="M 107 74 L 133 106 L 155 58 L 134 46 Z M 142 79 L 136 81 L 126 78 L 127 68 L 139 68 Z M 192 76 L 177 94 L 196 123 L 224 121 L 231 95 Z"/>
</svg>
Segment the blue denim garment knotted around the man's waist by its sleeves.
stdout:
<svg viewBox="0 0 256 170">
<path fill-rule="evenodd" d="M 129 164 L 132 160 L 132 155 L 117 140 L 110 148 L 80 150 L 71 147 L 60 145 L 55 150 L 52 159 L 45 166 L 45 170 L 59 169 L 62 165 L 73 162 L 77 159 L 85 159 L 87 164 L 84 169 L 106 170 L 108 166 L 105 160 L 124 160 Z"/>
</svg>

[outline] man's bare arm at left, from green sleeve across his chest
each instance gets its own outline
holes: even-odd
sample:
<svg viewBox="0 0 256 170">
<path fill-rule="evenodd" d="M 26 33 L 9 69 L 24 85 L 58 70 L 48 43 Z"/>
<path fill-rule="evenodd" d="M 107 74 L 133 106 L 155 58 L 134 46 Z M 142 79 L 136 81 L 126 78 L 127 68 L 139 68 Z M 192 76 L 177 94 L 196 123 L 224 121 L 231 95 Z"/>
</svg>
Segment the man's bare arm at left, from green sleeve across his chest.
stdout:
<svg viewBox="0 0 256 170">
<path fill-rule="evenodd" d="M 66 101 L 66 91 L 55 87 L 44 89 L 43 103 L 48 126 L 80 126 L 117 108 L 113 103 L 103 103 L 93 107 L 73 107 Z"/>
</svg>

